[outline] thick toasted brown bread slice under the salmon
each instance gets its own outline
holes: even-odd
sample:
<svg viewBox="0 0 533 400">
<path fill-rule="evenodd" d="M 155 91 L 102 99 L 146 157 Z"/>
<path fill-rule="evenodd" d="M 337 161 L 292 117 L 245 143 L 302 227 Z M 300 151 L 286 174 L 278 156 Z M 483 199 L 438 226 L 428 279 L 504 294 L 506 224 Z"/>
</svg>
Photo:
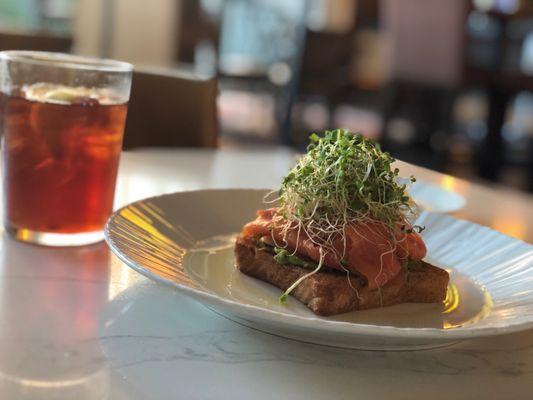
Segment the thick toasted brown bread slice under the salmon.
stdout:
<svg viewBox="0 0 533 400">
<path fill-rule="evenodd" d="M 270 251 L 241 236 L 235 243 L 235 263 L 242 273 L 282 290 L 310 271 L 278 264 Z M 327 316 L 399 303 L 439 303 L 446 297 L 448 280 L 446 271 L 421 262 L 418 268 L 402 271 L 380 289 L 369 290 L 353 274 L 348 277 L 325 268 L 302 281 L 291 295 L 315 314 Z"/>
</svg>

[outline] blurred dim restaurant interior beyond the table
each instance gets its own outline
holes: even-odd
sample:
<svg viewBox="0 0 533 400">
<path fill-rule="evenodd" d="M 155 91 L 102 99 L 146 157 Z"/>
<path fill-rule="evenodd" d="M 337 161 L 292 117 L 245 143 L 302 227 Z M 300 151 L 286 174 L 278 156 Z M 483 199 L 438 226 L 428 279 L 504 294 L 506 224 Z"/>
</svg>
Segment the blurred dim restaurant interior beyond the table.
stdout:
<svg viewBox="0 0 533 400">
<path fill-rule="evenodd" d="M 302 150 L 342 127 L 402 160 L 533 191 L 533 0 L 0 0 L 8 49 L 214 79 L 193 108 L 201 119 L 216 101 L 218 146 Z M 153 87 L 173 114 L 189 89 L 167 86 Z M 160 134 L 200 129 L 188 127 Z"/>
</svg>

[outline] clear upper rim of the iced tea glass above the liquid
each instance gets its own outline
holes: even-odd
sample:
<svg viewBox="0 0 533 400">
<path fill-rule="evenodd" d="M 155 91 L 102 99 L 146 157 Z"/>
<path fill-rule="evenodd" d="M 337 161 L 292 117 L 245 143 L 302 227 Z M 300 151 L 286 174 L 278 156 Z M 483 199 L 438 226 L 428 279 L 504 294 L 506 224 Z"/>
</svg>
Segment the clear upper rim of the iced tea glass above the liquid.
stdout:
<svg viewBox="0 0 533 400">
<path fill-rule="evenodd" d="M 131 72 L 133 65 L 106 58 L 85 57 L 68 53 L 31 50 L 0 51 L 0 61 L 26 63 L 38 66 L 81 69 L 101 72 Z"/>
</svg>

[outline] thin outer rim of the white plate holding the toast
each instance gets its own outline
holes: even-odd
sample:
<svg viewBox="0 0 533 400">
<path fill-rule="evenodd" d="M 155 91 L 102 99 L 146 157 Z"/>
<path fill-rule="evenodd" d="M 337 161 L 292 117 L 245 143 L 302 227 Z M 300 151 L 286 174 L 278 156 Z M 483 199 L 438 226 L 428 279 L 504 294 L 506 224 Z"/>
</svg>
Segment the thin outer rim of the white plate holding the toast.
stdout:
<svg viewBox="0 0 533 400">
<path fill-rule="evenodd" d="M 533 328 L 533 318 L 530 321 L 523 321 L 514 324 L 507 324 L 504 326 L 488 326 L 488 327 L 476 327 L 474 325 L 461 326 L 452 329 L 440 329 L 440 328 L 411 328 L 411 327 L 395 327 L 389 325 L 372 325 L 372 324 L 362 324 L 354 322 L 345 322 L 345 321 L 335 321 L 323 319 L 319 316 L 300 316 L 289 313 L 283 313 L 280 311 L 271 310 L 268 308 L 263 308 L 253 304 L 240 303 L 231 299 L 227 299 L 221 296 L 218 296 L 214 293 L 210 293 L 205 290 L 199 290 L 192 288 L 187 285 L 183 285 L 165 278 L 158 276 L 157 274 L 151 272 L 150 270 L 144 268 L 142 265 L 137 264 L 134 260 L 130 259 L 126 254 L 124 254 L 118 246 L 115 244 L 115 241 L 111 235 L 110 229 L 113 221 L 119 213 L 133 205 L 143 203 L 149 200 L 162 198 L 162 197 L 172 197 L 184 193 L 199 193 L 199 192 L 238 192 L 238 191 L 254 191 L 254 192 L 266 192 L 272 189 L 258 189 L 258 188 L 206 188 L 206 189 L 194 189 L 194 190 L 183 190 L 176 191 L 171 193 L 164 193 L 157 196 L 150 196 L 143 199 L 136 200 L 129 204 L 126 204 L 113 212 L 108 221 L 106 222 L 104 228 L 104 238 L 111 249 L 111 251 L 129 268 L 137 271 L 147 278 L 163 284 L 164 286 L 171 287 L 179 290 L 180 292 L 189 295 L 197 301 L 207 301 L 210 304 L 220 305 L 222 307 L 230 308 L 233 310 L 237 309 L 238 311 L 244 312 L 245 315 L 252 315 L 254 318 L 259 318 L 263 321 L 273 322 L 276 324 L 285 324 L 289 326 L 294 326 L 297 323 L 296 327 L 298 329 L 312 329 L 314 331 L 328 332 L 331 333 L 335 331 L 336 333 L 349 334 L 349 335 L 379 335 L 384 338 L 395 338 L 395 339 L 426 339 L 426 340 L 461 340 L 461 339 L 473 339 L 478 337 L 488 337 L 488 336 L 499 336 L 508 333 L 515 333 L 524 331 L 527 329 Z M 499 231 L 496 231 L 487 226 L 478 224 L 476 222 L 455 218 L 451 215 L 435 213 L 430 211 L 425 211 L 425 213 L 431 215 L 438 215 L 441 218 L 448 218 L 454 221 L 464 221 L 469 224 L 475 225 L 482 229 L 490 230 L 495 232 L 498 235 L 511 238 L 517 242 L 521 242 L 530 246 L 530 244 L 524 242 L 523 240 L 512 238 L 508 235 L 505 235 Z M 239 313 L 240 314 L 240 313 Z M 242 315 L 242 314 L 240 314 Z"/>
</svg>

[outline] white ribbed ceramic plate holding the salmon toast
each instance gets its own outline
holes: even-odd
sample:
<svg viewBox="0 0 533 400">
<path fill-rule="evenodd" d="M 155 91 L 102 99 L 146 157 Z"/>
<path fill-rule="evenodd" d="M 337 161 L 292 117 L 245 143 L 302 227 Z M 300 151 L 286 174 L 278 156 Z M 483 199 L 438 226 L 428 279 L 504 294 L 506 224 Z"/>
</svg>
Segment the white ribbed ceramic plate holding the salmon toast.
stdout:
<svg viewBox="0 0 533 400">
<path fill-rule="evenodd" d="M 451 272 L 445 304 L 403 304 L 318 317 L 233 265 L 233 238 L 264 207 L 265 191 L 200 190 L 118 210 L 106 240 L 127 265 L 245 325 L 351 348 L 414 349 L 533 327 L 533 246 L 489 228 L 425 212 L 428 261 Z"/>
</svg>

